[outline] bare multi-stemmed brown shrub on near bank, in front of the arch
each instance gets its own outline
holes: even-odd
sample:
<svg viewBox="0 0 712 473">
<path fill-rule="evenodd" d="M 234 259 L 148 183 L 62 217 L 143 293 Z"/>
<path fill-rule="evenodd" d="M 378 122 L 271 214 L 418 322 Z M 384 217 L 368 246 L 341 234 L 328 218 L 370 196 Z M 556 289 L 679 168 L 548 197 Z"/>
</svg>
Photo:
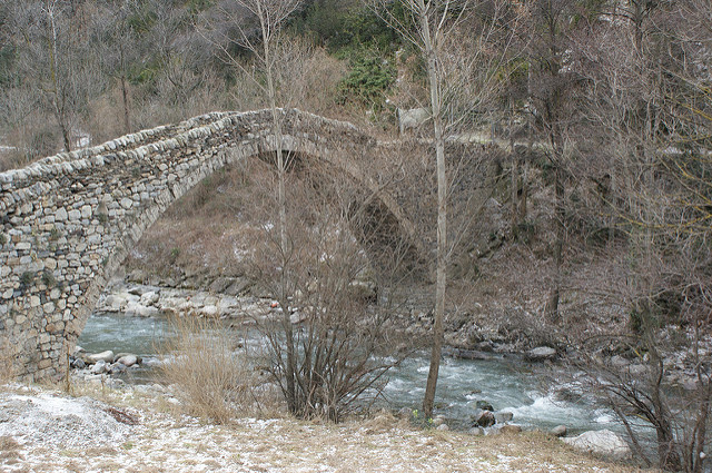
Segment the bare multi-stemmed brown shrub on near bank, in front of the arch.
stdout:
<svg viewBox="0 0 712 473">
<path fill-rule="evenodd" d="M 267 238 L 256 234 L 253 277 L 271 294 L 285 290 L 285 284 L 290 294 L 275 314 L 278 321 L 268 318 L 261 331 L 283 393 L 288 394 L 293 387 L 287 383 L 294 382 L 293 413 L 338 422 L 378 397 L 388 368 L 400 359 L 396 347 L 402 341 L 389 329 L 399 264 L 386 260 L 390 253 L 380 247 L 392 236 L 380 234 L 390 227 L 370 211 L 377 197 L 338 169 L 304 159 L 309 161 L 295 162 L 286 181 L 285 233 L 293 248 L 288 277 L 281 280 L 277 231 L 268 231 Z M 259 179 L 259 173 L 251 176 Z M 275 180 L 274 174 L 267 175 L 254 196 L 263 203 L 266 220 L 274 218 L 276 199 L 268 189 Z M 380 292 L 387 300 L 376 304 Z M 284 318 L 294 326 L 291 359 L 284 327 L 275 331 L 270 325 L 283 325 Z"/>
</svg>

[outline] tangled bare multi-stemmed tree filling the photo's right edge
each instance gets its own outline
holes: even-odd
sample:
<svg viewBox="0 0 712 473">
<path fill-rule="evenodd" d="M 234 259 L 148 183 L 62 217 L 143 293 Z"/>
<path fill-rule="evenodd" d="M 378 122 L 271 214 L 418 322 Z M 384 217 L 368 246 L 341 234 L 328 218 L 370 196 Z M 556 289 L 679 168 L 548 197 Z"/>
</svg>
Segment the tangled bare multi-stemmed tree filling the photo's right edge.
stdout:
<svg viewBox="0 0 712 473">
<path fill-rule="evenodd" d="M 639 452 L 634 426 L 642 418 L 655 431 L 661 467 L 701 472 L 712 401 L 710 357 L 701 349 L 712 311 L 704 269 L 712 260 L 710 186 L 703 177 L 711 169 L 712 102 L 700 65 L 712 11 L 692 0 L 631 1 L 614 2 L 604 14 L 607 21 L 580 48 L 590 59 L 581 71 L 592 85 L 586 112 L 614 158 L 606 162 L 607 204 L 630 236 L 623 264 L 629 284 L 617 294 L 631 314 L 629 332 L 609 334 L 606 343 L 615 339 L 636 364 L 587 364 Z M 591 345 L 589 352 L 605 346 L 601 339 Z M 688 390 L 671 387 L 679 375 L 671 353 L 693 366 Z"/>
</svg>

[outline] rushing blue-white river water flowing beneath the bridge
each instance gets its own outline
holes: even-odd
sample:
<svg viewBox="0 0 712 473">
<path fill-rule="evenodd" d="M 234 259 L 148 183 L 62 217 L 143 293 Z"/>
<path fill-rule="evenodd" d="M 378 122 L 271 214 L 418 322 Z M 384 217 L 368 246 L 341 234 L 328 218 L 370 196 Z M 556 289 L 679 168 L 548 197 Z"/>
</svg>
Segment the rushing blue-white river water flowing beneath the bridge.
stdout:
<svg viewBox="0 0 712 473">
<path fill-rule="evenodd" d="M 127 317 L 93 315 L 79 345 L 87 352 L 111 349 L 144 357 L 144 367 L 129 371 L 131 380 L 150 380 L 156 353 L 171 336 L 170 324 L 162 317 Z M 258 343 L 258 341 L 251 341 Z M 418 410 L 425 392 L 428 359 L 414 356 L 394 368 L 384 395 L 395 408 Z M 564 424 L 570 432 L 612 428 L 613 416 L 604 410 L 573 402 L 555 401 L 532 365 L 518 358 L 468 361 L 444 358 L 437 384 L 436 414 L 462 422 L 472 415 L 479 400 L 490 402 L 495 411 L 510 411 L 513 422 L 527 427 L 548 428 Z"/>
</svg>

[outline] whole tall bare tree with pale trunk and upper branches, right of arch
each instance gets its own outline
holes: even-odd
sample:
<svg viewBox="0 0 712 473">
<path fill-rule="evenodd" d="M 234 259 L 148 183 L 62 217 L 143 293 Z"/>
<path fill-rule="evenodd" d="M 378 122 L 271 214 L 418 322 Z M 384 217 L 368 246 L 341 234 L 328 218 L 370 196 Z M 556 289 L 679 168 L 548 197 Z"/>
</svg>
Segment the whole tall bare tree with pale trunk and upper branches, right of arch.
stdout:
<svg viewBox="0 0 712 473">
<path fill-rule="evenodd" d="M 506 35 L 497 35 L 502 31 L 500 28 L 505 6 L 494 2 L 484 8 L 484 2 L 467 0 L 404 0 L 399 2 L 403 16 L 389 2 L 376 0 L 370 1 L 369 6 L 414 45 L 425 61 L 437 188 L 435 311 L 431 366 L 423 401 L 424 414 L 429 417 L 433 414 L 444 341 L 447 270 L 453 248 L 448 243 L 452 176 L 448 176 L 445 142 L 456 130 L 472 129 L 473 109 L 482 111 L 493 95 L 496 79 L 492 71 L 498 69 L 504 58 L 502 51 L 508 46 Z M 473 14 L 475 12 L 478 16 Z M 461 31 L 464 24 L 474 28 L 475 35 Z M 495 38 L 504 38 L 503 43 L 498 45 L 503 49 L 496 49 L 494 55 L 487 56 L 487 48 L 493 46 L 491 41 Z"/>
</svg>

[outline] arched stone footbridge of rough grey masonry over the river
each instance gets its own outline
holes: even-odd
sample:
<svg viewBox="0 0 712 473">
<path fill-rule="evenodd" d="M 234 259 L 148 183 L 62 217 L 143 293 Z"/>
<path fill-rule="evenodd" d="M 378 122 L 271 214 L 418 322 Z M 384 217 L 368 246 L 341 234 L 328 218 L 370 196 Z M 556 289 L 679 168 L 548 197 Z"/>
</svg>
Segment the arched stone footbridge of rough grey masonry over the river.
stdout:
<svg viewBox="0 0 712 473">
<path fill-rule="evenodd" d="M 414 235 L 395 198 L 360 171 L 373 138 L 350 124 L 281 114 L 285 151 L 347 173 Z M 144 231 L 211 173 L 274 151 L 270 124 L 268 110 L 209 114 L 0 174 L 0 369 L 27 381 L 63 374 L 99 294 Z"/>
</svg>

